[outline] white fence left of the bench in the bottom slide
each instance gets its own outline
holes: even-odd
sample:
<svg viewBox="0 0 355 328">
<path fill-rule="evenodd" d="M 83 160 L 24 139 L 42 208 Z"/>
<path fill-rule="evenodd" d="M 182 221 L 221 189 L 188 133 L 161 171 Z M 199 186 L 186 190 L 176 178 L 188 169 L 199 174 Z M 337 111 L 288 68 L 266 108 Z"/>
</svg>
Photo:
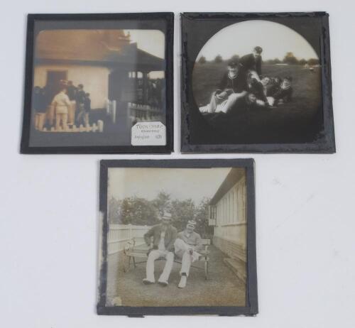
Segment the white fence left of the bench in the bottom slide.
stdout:
<svg viewBox="0 0 355 328">
<path fill-rule="evenodd" d="M 143 235 L 150 228 L 150 226 L 134 226 L 133 224 L 110 224 L 107 235 L 109 255 L 122 251 L 127 241 L 132 238 L 135 238 L 138 244 L 143 244 Z"/>
</svg>

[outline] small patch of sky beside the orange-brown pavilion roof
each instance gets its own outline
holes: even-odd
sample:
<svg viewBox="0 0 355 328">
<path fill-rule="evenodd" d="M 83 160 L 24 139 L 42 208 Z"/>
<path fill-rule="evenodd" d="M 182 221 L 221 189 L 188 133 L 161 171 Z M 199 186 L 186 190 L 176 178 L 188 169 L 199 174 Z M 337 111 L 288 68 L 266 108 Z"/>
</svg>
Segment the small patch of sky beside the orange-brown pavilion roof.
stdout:
<svg viewBox="0 0 355 328">
<path fill-rule="evenodd" d="M 131 34 L 131 43 L 137 43 L 141 50 L 156 57 L 165 57 L 165 35 L 158 30 L 124 30 Z"/>
</svg>

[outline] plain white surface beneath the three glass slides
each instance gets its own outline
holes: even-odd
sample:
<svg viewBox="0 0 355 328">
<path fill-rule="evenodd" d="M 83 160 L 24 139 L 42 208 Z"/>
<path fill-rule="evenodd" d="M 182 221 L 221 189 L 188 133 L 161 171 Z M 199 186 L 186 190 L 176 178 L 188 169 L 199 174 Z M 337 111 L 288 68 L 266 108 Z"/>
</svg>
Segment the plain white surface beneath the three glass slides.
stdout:
<svg viewBox="0 0 355 328">
<path fill-rule="evenodd" d="M 353 2 L 31 0 L 1 7 L 1 327 L 355 327 Z M 20 155 L 26 13 L 136 11 L 328 11 L 337 154 Z M 178 118 L 178 18 L 175 29 Z M 99 159 L 217 157 L 256 160 L 259 315 L 97 316 Z"/>
</svg>

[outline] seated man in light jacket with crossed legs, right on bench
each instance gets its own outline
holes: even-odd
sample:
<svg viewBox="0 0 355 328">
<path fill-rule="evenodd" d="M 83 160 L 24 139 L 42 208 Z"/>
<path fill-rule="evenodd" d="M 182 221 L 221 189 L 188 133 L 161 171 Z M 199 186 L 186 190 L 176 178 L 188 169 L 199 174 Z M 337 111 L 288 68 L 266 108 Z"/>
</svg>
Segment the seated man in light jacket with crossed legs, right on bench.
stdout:
<svg viewBox="0 0 355 328">
<path fill-rule="evenodd" d="M 174 244 L 176 256 L 182 259 L 178 288 L 185 288 L 191 263 L 197 261 L 201 255 L 197 253 L 202 249 L 201 236 L 194 231 L 195 226 L 196 222 L 189 220 L 186 229 L 178 233 Z"/>
</svg>

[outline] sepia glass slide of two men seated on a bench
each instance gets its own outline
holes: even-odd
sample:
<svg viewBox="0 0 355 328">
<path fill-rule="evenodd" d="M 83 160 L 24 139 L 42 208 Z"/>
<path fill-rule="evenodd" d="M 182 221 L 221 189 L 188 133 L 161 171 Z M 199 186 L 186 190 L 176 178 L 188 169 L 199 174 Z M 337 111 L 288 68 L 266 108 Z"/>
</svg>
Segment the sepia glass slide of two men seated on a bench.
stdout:
<svg viewBox="0 0 355 328">
<path fill-rule="evenodd" d="M 188 313 L 180 307 L 191 314 L 255 314 L 253 165 L 227 163 L 143 168 L 102 161 L 99 314 Z"/>
</svg>

